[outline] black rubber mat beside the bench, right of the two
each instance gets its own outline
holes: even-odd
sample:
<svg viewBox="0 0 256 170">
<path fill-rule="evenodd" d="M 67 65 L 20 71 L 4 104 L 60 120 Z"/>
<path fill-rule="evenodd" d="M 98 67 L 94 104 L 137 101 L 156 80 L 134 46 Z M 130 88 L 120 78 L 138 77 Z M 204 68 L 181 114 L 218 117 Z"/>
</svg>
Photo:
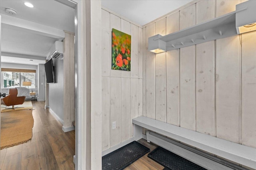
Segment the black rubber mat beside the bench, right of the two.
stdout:
<svg viewBox="0 0 256 170">
<path fill-rule="evenodd" d="M 164 166 L 164 170 L 206 170 L 162 147 L 158 147 L 150 152 L 148 157 Z"/>
</svg>

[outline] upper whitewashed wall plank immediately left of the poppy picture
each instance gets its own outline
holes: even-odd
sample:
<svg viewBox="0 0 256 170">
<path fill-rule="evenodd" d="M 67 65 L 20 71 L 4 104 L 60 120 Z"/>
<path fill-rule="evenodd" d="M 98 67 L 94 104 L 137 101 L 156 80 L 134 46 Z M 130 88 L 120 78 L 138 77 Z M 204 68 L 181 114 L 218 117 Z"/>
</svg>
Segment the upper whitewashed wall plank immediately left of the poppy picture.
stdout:
<svg viewBox="0 0 256 170">
<path fill-rule="evenodd" d="M 102 12 L 102 41 L 101 41 L 101 55 L 102 55 L 102 75 L 110 76 L 111 69 L 111 30 L 110 30 L 110 14 L 105 10 Z"/>
</svg>

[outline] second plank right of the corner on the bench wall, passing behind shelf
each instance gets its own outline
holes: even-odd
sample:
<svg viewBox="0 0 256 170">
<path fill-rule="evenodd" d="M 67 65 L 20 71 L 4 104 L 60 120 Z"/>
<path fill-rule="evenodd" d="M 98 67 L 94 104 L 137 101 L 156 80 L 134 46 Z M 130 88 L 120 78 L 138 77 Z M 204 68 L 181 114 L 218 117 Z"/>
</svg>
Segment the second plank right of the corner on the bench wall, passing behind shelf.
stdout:
<svg viewBox="0 0 256 170">
<path fill-rule="evenodd" d="M 166 35 L 166 18 L 156 22 L 155 34 Z M 166 53 L 156 54 L 156 120 L 166 122 Z"/>
</svg>

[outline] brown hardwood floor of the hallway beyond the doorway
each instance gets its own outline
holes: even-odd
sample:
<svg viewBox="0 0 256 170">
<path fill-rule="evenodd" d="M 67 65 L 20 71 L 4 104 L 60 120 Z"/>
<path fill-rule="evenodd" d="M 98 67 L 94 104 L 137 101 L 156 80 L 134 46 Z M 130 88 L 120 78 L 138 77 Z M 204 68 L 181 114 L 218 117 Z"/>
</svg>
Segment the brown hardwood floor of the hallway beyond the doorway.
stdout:
<svg viewBox="0 0 256 170">
<path fill-rule="evenodd" d="M 2 149 L 2 170 L 74 170 L 75 131 L 64 133 L 44 102 L 34 102 L 31 141 Z"/>
</svg>

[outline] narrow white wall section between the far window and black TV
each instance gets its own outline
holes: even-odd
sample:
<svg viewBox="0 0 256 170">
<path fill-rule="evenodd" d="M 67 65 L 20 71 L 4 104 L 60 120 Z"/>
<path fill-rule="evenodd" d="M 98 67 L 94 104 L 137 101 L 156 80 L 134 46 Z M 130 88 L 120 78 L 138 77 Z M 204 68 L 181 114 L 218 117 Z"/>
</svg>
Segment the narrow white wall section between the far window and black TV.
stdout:
<svg viewBox="0 0 256 170">
<path fill-rule="evenodd" d="M 45 70 L 44 64 L 38 64 L 38 102 L 45 101 Z"/>
</svg>

